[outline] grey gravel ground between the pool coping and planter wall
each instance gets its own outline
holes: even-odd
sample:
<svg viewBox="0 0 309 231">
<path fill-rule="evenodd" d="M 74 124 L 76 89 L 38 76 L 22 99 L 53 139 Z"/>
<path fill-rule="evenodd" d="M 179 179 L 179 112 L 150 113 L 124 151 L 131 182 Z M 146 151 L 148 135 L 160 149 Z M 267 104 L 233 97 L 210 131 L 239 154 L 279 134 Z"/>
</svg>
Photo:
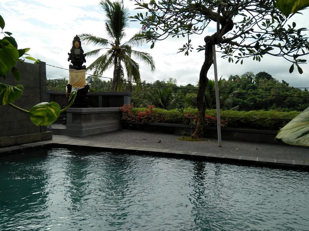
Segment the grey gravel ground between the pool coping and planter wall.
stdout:
<svg viewBox="0 0 309 231">
<path fill-rule="evenodd" d="M 256 156 L 280 160 L 309 159 L 309 148 L 307 147 L 231 140 L 222 140 L 222 147 L 218 147 L 218 141 L 215 139 L 190 142 L 177 140 L 178 137 L 181 136 L 155 132 L 120 130 L 84 137 L 53 135 L 53 140 L 68 140 L 118 146 L 125 145 L 143 148 L 162 148 L 189 152 L 207 152 L 212 154 Z"/>
</svg>

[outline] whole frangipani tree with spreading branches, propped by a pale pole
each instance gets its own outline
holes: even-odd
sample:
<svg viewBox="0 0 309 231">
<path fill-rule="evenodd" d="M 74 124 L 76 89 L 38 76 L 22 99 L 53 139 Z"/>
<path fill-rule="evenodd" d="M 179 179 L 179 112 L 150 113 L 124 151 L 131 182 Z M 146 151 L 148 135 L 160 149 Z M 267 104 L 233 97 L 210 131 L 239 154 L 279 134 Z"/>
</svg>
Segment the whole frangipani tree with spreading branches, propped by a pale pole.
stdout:
<svg viewBox="0 0 309 231">
<path fill-rule="evenodd" d="M 232 63 L 243 64 L 245 58 L 259 62 L 264 55 L 282 57 L 292 63 L 290 72 L 308 55 L 309 43 L 306 28 L 298 28 L 295 22 L 288 23 L 284 14 L 275 6 L 275 1 L 260 0 L 134 0 L 138 13 L 131 17 L 146 28 L 144 38 L 155 42 L 172 37 L 187 37 L 188 42 L 179 49 L 189 55 L 194 50 L 192 34 L 201 34 L 196 50 L 204 52 L 199 74 L 197 93 L 198 120 L 193 137 L 202 136 L 205 118 L 204 95 L 208 83 L 207 73 L 213 64 L 212 46 L 220 48 L 222 57 Z M 212 35 L 203 35 L 211 23 L 217 25 Z M 196 46 L 194 46 L 196 47 Z"/>
</svg>

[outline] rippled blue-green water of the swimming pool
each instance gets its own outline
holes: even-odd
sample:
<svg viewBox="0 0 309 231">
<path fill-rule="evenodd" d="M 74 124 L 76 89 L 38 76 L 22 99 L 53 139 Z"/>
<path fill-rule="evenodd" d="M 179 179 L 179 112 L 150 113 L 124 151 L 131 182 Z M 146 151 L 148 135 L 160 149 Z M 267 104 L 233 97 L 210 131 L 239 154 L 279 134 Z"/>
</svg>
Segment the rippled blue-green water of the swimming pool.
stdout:
<svg viewBox="0 0 309 231">
<path fill-rule="evenodd" d="M 0 157 L 0 230 L 309 230 L 309 173 L 53 148 Z"/>
</svg>

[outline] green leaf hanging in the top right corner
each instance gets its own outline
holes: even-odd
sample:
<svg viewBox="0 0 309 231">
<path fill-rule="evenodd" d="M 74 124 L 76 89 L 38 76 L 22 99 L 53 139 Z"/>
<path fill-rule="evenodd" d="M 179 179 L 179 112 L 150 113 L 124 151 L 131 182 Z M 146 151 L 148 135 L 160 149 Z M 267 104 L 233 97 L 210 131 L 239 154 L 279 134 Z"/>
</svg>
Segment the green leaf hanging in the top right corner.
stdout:
<svg viewBox="0 0 309 231">
<path fill-rule="evenodd" d="M 308 7 L 309 0 L 277 0 L 276 6 L 282 14 L 288 17 L 290 14 Z"/>
</svg>

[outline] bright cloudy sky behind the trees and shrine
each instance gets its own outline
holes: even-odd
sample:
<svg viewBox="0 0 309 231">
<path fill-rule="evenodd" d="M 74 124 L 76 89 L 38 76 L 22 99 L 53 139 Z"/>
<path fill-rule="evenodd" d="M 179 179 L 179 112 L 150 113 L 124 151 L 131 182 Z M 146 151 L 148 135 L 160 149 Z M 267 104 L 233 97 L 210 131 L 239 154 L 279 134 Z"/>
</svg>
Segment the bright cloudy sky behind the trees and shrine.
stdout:
<svg viewBox="0 0 309 231">
<path fill-rule="evenodd" d="M 13 33 L 19 48 L 31 47 L 28 52 L 36 59 L 40 59 L 47 64 L 68 68 L 67 53 L 72 46 L 72 40 L 76 34 L 90 33 L 96 36 L 107 38 L 104 29 L 104 12 L 99 6 L 99 0 L 1 0 L 0 14 L 6 22 L 4 31 Z M 130 14 L 135 15 L 134 3 L 124 0 L 124 4 L 129 8 Z M 309 10 L 303 11 L 304 15 L 297 15 L 292 18 L 297 27 L 309 27 Z M 131 22 L 126 30 L 128 37 L 141 29 L 140 24 Z M 204 35 L 211 34 L 215 28 L 209 27 Z M 204 36 L 193 36 L 193 47 L 203 45 Z M 159 41 L 153 49 L 150 44 L 136 48 L 136 50 L 150 53 L 154 60 L 156 71 L 150 72 L 149 67 L 141 64 L 141 77 L 146 82 L 155 80 L 167 80 L 176 78 L 178 84 L 197 84 L 199 71 L 203 63 L 203 52 L 193 51 L 189 56 L 178 53 L 178 48 L 182 47 L 184 40 L 169 38 Z M 94 47 L 83 45 L 85 52 Z M 217 55 L 218 75 L 227 78 L 229 75 L 241 75 L 247 71 L 258 73 L 266 71 L 274 78 L 281 81 L 284 79 L 294 87 L 309 88 L 309 67 L 302 66 L 304 73 L 300 75 L 297 70 L 289 73 L 290 63 L 285 59 L 264 56 L 261 62 L 252 59 L 244 60 L 243 65 L 228 63 L 227 59 Z M 307 57 L 309 58 L 309 57 Z M 86 57 L 87 59 L 87 57 Z M 94 59 L 87 59 L 89 65 Z M 28 62 L 28 61 L 27 61 Z M 31 61 L 29 61 L 31 62 Z M 48 79 L 61 78 L 59 75 L 68 76 L 68 71 L 55 67 L 46 67 Z M 54 74 L 51 74 L 54 73 Z M 214 78 L 214 70 L 210 69 L 209 78 Z M 58 75 L 55 75 L 58 74 Z M 106 71 L 104 77 L 112 78 L 112 71 Z"/>
</svg>

